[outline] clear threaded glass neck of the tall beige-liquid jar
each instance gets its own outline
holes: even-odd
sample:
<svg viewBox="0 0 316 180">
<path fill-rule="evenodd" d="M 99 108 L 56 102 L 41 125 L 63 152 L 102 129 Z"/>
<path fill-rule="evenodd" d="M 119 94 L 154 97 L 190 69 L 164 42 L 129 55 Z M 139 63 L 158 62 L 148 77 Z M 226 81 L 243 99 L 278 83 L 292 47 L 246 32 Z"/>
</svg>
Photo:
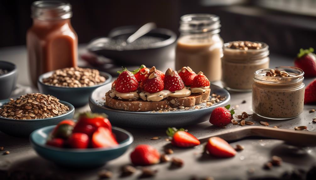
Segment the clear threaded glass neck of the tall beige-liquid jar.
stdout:
<svg viewBox="0 0 316 180">
<path fill-rule="evenodd" d="M 184 33 L 203 33 L 220 32 L 219 17 L 214 14 L 186 14 L 180 18 L 180 32 Z"/>
</svg>

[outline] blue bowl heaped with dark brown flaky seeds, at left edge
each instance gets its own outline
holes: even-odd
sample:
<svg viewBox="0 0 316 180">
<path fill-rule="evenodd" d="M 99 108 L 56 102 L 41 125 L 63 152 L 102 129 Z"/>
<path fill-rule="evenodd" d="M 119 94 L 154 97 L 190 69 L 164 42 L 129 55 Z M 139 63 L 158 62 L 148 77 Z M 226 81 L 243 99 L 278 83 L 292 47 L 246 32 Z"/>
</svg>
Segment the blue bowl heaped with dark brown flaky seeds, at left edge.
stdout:
<svg viewBox="0 0 316 180">
<path fill-rule="evenodd" d="M 34 130 L 71 119 L 75 108 L 54 96 L 32 93 L 0 101 L 0 131 L 28 136 Z"/>
</svg>

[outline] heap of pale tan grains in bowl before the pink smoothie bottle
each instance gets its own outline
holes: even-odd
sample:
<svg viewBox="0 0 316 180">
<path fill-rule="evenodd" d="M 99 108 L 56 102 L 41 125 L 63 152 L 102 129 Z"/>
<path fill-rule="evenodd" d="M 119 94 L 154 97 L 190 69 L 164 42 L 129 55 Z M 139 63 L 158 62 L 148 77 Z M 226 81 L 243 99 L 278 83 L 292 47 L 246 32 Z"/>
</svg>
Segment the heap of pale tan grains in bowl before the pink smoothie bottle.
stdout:
<svg viewBox="0 0 316 180">
<path fill-rule="evenodd" d="M 105 82 L 100 72 L 90 68 L 71 67 L 55 70 L 43 83 L 58 87 L 88 87 Z"/>
</svg>

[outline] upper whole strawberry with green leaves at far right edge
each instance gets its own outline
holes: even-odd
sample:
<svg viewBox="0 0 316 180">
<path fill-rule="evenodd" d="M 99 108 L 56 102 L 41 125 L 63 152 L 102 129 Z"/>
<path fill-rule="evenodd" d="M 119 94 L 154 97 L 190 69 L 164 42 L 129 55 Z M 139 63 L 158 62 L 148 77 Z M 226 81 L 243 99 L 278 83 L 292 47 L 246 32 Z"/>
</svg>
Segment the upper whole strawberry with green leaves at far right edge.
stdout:
<svg viewBox="0 0 316 180">
<path fill-rule="evenodd" d="M 301 68 L 305 72 L 305 77 L 316 76 L 316 55 L 313 48 L 300 49 L 294 61 L 295 67 Z"/>
</svg>

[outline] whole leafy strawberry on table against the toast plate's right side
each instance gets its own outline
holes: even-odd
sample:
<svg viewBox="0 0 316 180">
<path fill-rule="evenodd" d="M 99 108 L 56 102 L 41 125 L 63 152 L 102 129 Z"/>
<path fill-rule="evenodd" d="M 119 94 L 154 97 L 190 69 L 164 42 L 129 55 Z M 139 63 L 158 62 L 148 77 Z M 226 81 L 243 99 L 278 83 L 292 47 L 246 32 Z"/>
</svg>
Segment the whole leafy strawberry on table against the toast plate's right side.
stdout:
<svg viewBox="0 0 316 180">
<path fill-rule="evenodd" d="M 229 111 L 229 108 L 230 105 L 227 105 L 225 107 L 217 107 L 213 110 L 210 116 L 210 123 L 218 127 L 228 125 L 233 119 L 233 114 L 235 114 L 234 109 Z"/>
</svg>

